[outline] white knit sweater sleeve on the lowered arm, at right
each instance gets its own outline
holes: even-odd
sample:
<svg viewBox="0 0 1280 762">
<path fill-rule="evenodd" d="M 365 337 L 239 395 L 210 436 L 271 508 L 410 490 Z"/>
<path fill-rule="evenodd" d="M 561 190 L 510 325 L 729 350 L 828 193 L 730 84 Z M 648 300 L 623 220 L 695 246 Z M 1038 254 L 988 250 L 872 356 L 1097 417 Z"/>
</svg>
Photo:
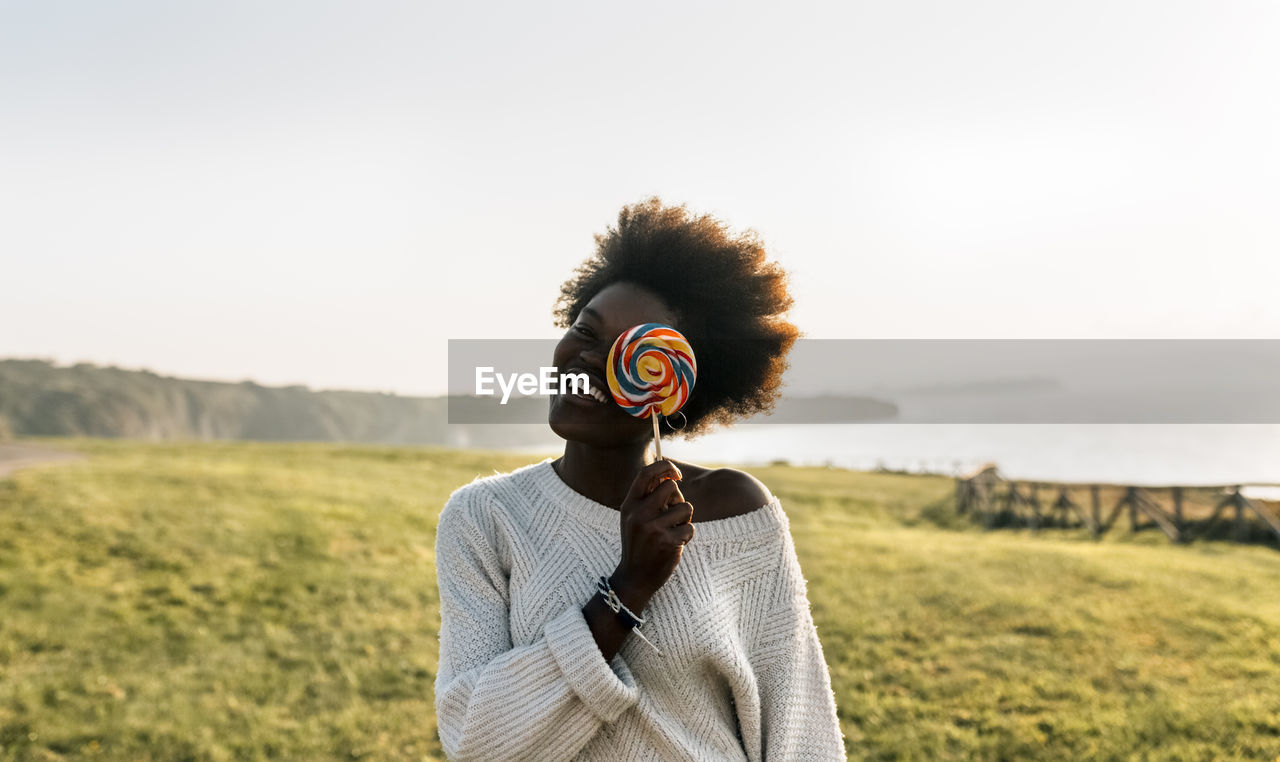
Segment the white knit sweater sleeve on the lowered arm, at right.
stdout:
<svg viewBox="0 0 1280 762">
<path fill-rule="evenodd" d="M 764 759 L 845 759 L 831 675 L 787 528 L 781 546 L 777 584 L 751 656 Z"/>
</svg>

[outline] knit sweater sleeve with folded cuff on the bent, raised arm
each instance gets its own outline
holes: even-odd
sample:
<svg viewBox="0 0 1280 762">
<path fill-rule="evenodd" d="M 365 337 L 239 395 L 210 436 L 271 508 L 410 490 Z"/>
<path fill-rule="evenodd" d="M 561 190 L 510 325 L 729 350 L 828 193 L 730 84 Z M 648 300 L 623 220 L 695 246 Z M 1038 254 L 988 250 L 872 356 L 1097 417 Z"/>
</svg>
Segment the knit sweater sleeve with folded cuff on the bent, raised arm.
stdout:
<svg viewBox="0 0 1280 762">
<path fill-rule="evenodd" d="M 436 530 L 440 743 L 451 759 L 571 758 L 636 703 L 636 684 L 621 657 L 604 661 L 580 606 L 532 643 L 512 644 L 508 571 L 488 502 L 480 489 L 458 490 Z"/>
</svg>

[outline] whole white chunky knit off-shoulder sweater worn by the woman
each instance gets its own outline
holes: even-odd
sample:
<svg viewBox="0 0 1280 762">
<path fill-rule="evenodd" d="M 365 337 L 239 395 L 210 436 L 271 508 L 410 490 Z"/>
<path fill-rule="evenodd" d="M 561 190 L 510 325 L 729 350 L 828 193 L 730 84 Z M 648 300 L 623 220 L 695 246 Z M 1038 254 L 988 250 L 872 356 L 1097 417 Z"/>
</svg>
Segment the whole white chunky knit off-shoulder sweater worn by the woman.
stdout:
<svg viewBox="0 0 1280 762">
<path fill-rule="evenodd" d="M 440 514 L 435 713 L 453 759 L 844 759 L 831 677 L 777 497 L 695 523 L 605 662 L 582 606 L 620 515 L 550 460 L 477 479 Z"/>
</svg>

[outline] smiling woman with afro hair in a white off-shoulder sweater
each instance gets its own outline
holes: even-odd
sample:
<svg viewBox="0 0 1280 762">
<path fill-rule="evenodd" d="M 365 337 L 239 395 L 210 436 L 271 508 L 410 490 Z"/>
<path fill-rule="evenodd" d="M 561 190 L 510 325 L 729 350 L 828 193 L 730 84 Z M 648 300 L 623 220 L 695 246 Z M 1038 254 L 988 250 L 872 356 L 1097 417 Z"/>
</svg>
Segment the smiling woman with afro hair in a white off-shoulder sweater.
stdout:
<svg viewBox="0 0 1280 762">
<path fill-rule="evenodd" d="M 754 237 L 657 199 L 623 209 L 596 243 L 556 310 L 567 332 L 554 365 L 591 379 L 586 394 L 552 398 L 564 455 L 479 479 L 440 515 L 445 753 L 844 759 L 778 499 L 741 471 L 650 462 L 652 421 L 604 383 L 614 338 L 664 323 L 699 371 L 664 433 L 769 410 L 797 334 L 781 319 L 786 274 Z"/>
</svg>

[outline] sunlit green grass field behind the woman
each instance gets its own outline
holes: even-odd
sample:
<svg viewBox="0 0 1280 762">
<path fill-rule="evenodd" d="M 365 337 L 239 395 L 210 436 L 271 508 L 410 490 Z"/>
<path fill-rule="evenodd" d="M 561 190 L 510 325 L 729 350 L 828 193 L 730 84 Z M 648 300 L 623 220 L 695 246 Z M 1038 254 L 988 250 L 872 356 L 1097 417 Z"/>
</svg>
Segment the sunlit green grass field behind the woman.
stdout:
<svg viewBox="0 0 1280 762">
<path fill-rule="evenodd" d="M 0 479 L 0 759 L 438 757 L 436 515 L 531 458 L 56 443 L 90 457 Z M 1280 552 L 983 533 L 948 479 L 751 471 L 851 758 L 1280 759 Z"/>
</svg>

